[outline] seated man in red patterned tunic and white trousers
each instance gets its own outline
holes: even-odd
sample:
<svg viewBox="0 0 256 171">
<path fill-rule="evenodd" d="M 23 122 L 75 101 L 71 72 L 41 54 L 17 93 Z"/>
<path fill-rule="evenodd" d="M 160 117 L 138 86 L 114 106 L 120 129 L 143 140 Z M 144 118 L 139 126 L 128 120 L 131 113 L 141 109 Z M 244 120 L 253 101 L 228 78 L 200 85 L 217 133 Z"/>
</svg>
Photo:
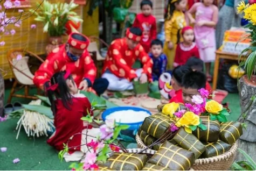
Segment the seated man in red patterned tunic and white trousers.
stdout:
<svg viewBox="0 0 256 171">
<path fill-rule="evenodd" d="M 126 37 L 114 40 L 108 48 L 102 72 L 102 78 L 109 82 L 108 90 L 132 90 L 132 81 L 138 78 L 140 83 L 151 81 L 153 61 L 139 44 L 141 35 L 140 28 L 127 28 Z M 134 70 L 132 66 L 138 58 L 143 68 Z"/>
</svg>

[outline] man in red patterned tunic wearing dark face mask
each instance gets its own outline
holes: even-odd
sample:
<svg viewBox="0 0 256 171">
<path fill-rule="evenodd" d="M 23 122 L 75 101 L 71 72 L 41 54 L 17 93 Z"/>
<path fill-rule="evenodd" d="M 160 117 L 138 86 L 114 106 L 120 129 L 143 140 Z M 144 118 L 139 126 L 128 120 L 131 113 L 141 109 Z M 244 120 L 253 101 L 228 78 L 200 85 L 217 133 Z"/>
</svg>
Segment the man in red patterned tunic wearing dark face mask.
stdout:
<svg viewBox="0 0 256 171">
<path fill-rule="evenodd" d="M 67 43 L 53 49 L 34 74 L 34 84 L 44 89 L 44 83 L 49 81 L 54 73 L 70 70 L 78 88 L 86 91 L 92 87 L 98 95 L 108 86 L 106 79 L 95 80 L 96 67 L 87 51 L 88 38 L 80 33 L 71 33 Z M 95 82 L 94 82 L 95 80 Z"/>
</svg>

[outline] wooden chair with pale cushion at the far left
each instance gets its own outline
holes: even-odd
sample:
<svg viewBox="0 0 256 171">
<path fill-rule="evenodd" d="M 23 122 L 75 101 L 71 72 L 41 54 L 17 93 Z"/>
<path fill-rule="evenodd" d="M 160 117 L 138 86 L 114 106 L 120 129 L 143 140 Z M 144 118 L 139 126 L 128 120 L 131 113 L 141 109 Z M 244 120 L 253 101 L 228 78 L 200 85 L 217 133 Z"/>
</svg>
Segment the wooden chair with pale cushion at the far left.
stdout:
<svg viewBox="0 0 256 171">
<path fill-rule="evenodd" d="M 17 55 L 22 55 L 22 59 L 17 60 Z M 37 97 L 29 96 L 29 88 L 35 87 L 33 83 L 34 75 L 30 72 L 30 68 L 28 65 L 29 56 L 37 58 L 42 63 L 44 62 L 38 55 L 26 51 L 23 49 L 13 49 L 8 52 L 7 59 L 10 64 L 11 70 L 13 75 L 15 76 L 15 82 L 12 85 L 12 89 L 10 92 L 10 96 L 8 98 L 8 103 L 11 102 L 12 97 L 21 97 L 21 98 L 30 98 L 30 99 L 37 99 Z M 17 85 L 20 87 L 17 88 Z M 18 90 L 24 87 L 24 94 L 15 94 Z M 17 90 L 18 89 L 18 90 Z M 37 89 L 38 94 L 40 94 L 40 89 Z"/>
</svg>

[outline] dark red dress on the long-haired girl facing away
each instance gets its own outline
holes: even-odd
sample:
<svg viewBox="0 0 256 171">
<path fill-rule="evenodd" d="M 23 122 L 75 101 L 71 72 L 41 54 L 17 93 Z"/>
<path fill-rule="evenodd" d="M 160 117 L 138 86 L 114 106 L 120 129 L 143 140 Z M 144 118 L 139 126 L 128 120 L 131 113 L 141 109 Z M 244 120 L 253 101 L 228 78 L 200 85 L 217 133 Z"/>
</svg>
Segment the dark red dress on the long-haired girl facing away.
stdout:
<svg viewBox="0 0 256 171">
<path fill-rule="evenodd" d="M 90 111 L 91 103 L 86 97 L 73 97 L 72 105 L 68 110 L 60 99 L 56 100 L 57 112 L 54 116 L 54 126 L 56 132 L 47 140 L 47 143 L 55 147 L 59 151 L 63 149 L 63 143 L 67 143 L 74 134 L 81 133 L 86 127 L 83 125 L 81 117 L 87 116 L 87 109 Z M 88 127 L 92 128 L 91 125 Z M 81 145 L 81 134 L 75 135 L 69 142 L 69 147 Z M 80 151 L 80 147 L 71 148 L 69 152 Z"/>
</svg>

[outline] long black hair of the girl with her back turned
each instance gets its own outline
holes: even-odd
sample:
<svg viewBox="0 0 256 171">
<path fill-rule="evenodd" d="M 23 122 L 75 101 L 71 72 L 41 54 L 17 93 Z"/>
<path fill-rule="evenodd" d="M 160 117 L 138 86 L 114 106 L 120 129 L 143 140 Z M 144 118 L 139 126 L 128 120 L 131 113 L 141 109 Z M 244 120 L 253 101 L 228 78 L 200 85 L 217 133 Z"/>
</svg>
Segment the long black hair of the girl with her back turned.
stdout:
<svg viewBox="0 0 256 171">
<path fill-rule="evenodd" d="M 50 103 L 51 103 L 51 108 L 52 108 L 52 112 L 53 115 L 56 114 L 56 105 L 54 103 L 55 99 L 61 99 L 61 101 L 63 102 L 63 105 L 65 106 L 65 108 L 67 108 L 68 110 L 70 110 L 70 105 L 72 105 L 72 95 L 70 94 L 69 88 L 67 86 L 66 80 L 64 79 L 64 75 L 65 75 L 66 71 L 63 72 L 58 72 L 53 74 L 52 78 L 50 81 L 47 81 L 44 84 L 44 88 L 45 88 L 45 92 L 46 92 L 46 96 L 49 97 Z M 75 84 L 72 76 L 68 76 L 67 79 L 70 79 L 73 81 L 73 84 Z M 51 85 L 54 84 L 58 84 L 58 87 L 56 90 L 48 90 L 49 87 L 51 87 Z"/>
</svg>

